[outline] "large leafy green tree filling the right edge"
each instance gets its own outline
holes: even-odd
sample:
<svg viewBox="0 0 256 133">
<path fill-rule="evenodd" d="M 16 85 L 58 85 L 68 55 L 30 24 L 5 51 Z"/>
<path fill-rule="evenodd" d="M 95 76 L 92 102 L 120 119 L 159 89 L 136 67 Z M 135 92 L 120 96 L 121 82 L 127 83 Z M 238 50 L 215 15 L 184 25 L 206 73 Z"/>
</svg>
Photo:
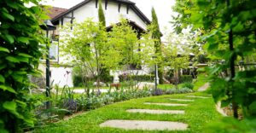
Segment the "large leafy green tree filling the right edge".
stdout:
<svg viewBox="0 0 256 133">
<path fill-rule="evenodd" d="M 212 75 L 212 95 L 223 106 L 232 104 L 234 117 L 238 107 L 245 118 L 256 116 L 255 67 L 238 71 L 240 59 L 253 56 L 256 42 L 256 3 L 253 0 L 204 1 L 177 0 L 175 10 L 177 31 L 187 26 L 201 32 L 201 41 L 214 64 L 209 67 Z M 218 61 L 222 61 L 219 63 Z M 248 63 L 248 62 L 247 62 Z M 229 71 L 229 77 L 218 75 Z"/>
</svg>

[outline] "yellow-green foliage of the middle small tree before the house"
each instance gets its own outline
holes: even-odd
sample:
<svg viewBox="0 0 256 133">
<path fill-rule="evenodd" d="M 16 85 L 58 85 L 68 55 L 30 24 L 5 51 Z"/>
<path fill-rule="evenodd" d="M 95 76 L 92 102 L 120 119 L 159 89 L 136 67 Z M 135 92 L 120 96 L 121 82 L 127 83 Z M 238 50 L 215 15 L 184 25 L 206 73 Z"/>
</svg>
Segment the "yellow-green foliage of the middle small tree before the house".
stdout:
<svg viewBox="0 0 256 133">
<path fill-rule="evenodd" d="M 104 53 L 104 64 L 113 71 L 128 69 L 131 64 L 139 64 L 137 32 L 125 19 L 113 25 L 108 32 L 108 49 Z"/>
</svg>

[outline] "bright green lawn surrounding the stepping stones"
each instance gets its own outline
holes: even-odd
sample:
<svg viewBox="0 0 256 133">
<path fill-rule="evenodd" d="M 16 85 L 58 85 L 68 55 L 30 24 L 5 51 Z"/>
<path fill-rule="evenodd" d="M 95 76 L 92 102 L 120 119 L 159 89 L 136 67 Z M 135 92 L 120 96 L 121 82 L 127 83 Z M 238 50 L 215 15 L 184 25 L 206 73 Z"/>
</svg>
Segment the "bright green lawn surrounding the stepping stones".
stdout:
<svg viewBox="0 0 256 133">
<path fill-rule="evenodd" d="M 187 94 L 188 95 L 188 94 Z M 209 96 L 205 93 L 195 93 L 189 95 L 203 95 Z M 131 101 L 124 101 L 114 103 L 105 107 L 97 108 L 87 113 L 83 113 L 73 119 L 61 121 L 56 124 L 49 124 L 44 128 L 34 130 L 37 133 L 61 133 L 61 132 L 73 132 L 73 133 L 156 133 L 156 132 L 204 132 L 204 126 L 213 120 L 218 120 L 221 115 L 216 111 L 215 104 L 212 98 L 208 99 L 195 99 L 193 102 L 187 101 L 170 101 L 168 98 L 183 98 L 193 99 L 185 97 L 185 95 L 161 95 L 153 96 L 142 99 L 133 99 Z M 188 107 L 165 107 L 157 105 L 144 105 L 144 102 L 172 102 L 172 103 L 188 103 Z M 147 108 L 147 109 L 165 109 L 165 110 L 185 110 L 185 114 L 147 114 L 147 113 L 126 113 L 125 110 L 131 108 Z M 177 121 L 189 124 L 189 130 L 185 131 L 170 131 L 170 130 L 121 130 L 114 128 L 101 128 L 99 124 L 102 124 L 109 119 L 137 119 L 137 120 L 160 120 L 160 121 Z"/>
</svg>

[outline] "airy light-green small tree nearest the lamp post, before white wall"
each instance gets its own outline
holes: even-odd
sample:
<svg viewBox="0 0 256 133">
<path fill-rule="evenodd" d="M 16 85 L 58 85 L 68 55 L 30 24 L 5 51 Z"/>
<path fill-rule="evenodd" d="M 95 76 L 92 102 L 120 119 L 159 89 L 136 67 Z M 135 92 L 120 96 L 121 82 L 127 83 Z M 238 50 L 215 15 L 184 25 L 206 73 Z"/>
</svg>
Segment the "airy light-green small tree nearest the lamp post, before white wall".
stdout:
<svg viewBox="0 0 256 133">
<path fill-rule="evenodd" d="M 97 78 L 99 84 L 103 53 L 107 49 L 105 45 L 107 32 L 100 23 L 90 19 L 81 23 L 75 22 L 73 30 L 69 27 L 70 25 L 67 25 L 62 29 L 63 36 L 60 40 L 62 54 L 74 66 L 81 67 L 85 72 L 84 78 L 91 75 Z"/>
</svg>

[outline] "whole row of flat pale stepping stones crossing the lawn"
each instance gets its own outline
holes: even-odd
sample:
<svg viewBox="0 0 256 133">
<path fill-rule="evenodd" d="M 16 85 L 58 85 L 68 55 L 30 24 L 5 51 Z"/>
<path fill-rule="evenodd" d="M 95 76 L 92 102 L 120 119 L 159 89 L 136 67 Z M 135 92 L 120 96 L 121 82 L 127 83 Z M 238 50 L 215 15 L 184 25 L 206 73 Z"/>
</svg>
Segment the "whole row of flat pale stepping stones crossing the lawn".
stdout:
<svg viewBox="0 0 256 133">
<path fill-rule="evenodd" d="M 192 98 L 210 98 L 204 96 L 186 95 Z M 170 101 L 194 101 L 189 99 L 172 99 Z M 188 104 L 179 103 L 155 103 L 155 102 L 144 102 L 147 105 L 158 105 L 158 106 L 169 106 L 169 107 L 185 107 Z M 154 110 L 154 109 L 128 109 L 128 113 L 152 113 L 152 114 L 184 114 L 183 110 Z M 123 120 L 113 119 L 105 121 L 100 124 L 101 127 L 112 127 L 124 130 L 187 130 L 188 124 L 172 121 L 156 121 L 156 120 Z"/>
</svg>

